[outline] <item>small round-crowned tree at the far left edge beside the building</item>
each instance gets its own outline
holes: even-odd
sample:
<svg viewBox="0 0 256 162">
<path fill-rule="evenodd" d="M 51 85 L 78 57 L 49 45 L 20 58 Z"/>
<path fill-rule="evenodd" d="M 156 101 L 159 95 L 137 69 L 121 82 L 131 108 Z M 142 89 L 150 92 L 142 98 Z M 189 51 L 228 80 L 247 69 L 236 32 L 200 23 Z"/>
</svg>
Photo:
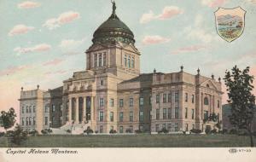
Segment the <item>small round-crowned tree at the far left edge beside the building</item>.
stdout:
<svg viewBox="0 0 256 162">
<path fill-rule="evenodd" d="M 2 111 L 0 116 L 0 125 L 4 128 L 4 130 L 7 132 L 9 128 L 14 126 L 16 120 L 16 113 L 15 109 L 11 107 L 8 112 Z"/>
</svg>

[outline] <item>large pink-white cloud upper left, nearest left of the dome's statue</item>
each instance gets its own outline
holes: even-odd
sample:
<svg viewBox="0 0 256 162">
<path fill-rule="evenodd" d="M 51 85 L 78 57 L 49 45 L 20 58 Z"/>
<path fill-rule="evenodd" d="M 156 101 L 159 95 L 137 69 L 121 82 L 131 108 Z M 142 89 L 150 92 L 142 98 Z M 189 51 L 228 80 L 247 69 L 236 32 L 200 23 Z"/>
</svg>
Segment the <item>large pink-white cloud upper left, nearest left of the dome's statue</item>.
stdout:
<svg viewBox="0 0 256 162">
<path fill-rule="evenodd" d="M 44 22 L 44 27 L 47 27 L 49 30 L 53 30 L 57 27 L 60 27 L 64 24 L 70 23 L 73 20 L 79 19 L 80 14 L 78 12 L 68 11 L 62 13 L 57 18 L 50 18 Z"/>
</svg>

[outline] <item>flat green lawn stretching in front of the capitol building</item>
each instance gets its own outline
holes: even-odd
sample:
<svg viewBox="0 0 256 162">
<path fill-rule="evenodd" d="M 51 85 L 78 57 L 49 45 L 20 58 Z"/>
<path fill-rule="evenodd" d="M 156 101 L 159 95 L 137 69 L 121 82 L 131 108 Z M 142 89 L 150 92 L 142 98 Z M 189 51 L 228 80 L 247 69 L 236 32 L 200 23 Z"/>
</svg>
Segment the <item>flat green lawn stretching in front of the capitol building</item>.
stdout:
<svg viewBox="0 0 256 162">
<path fill-rule="evenodd" d="M 0 137 L 0 148 L 7 138 Z M 254 137 L 254 142 L 256 138 Z M 236 135 L 90 135 L 30 136 L 21 148 L 230 148 L 249 147 L 248 136 Z M 9 147 L 11 146 L 9 144 Z"/>
</svg>

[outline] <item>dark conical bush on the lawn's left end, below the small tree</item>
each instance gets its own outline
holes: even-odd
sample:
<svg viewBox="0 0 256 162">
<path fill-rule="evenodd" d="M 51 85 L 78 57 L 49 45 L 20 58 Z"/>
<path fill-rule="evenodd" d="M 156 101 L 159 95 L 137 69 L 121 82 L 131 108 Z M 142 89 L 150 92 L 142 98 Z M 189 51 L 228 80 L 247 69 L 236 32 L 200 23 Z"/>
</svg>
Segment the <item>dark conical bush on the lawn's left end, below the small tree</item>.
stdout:
<svg viewBox="0 0 256 162">
<path fill-rule="evenodd" d="M 20 145 L 21 142 L 26 141 L 27 132 L 22 130 L 19 124 L 15 126 L 15 130 L 9 134 L 10 142 Z"/>
</svg>

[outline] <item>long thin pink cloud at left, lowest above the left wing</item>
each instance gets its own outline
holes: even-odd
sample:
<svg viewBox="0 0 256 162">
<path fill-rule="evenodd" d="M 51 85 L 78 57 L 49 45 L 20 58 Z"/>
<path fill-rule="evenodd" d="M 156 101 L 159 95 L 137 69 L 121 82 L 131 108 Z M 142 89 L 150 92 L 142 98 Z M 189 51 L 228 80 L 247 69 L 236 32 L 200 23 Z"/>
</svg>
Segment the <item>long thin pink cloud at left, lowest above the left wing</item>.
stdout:
<svg viewBox="0 0 256 162">
<path fill-rule="evenodd" d="M 45 52 L 51 49 L 51 46 L 47 43 L 40 43 L 38 45 L 35 45 L 33 47 L 27 47 L 27 48 L 20 48 L 17 47 L 14 49 L 15 52 L 18 52 L 19 54 L 26 54 L 31 52 Z"/>
</svg>

